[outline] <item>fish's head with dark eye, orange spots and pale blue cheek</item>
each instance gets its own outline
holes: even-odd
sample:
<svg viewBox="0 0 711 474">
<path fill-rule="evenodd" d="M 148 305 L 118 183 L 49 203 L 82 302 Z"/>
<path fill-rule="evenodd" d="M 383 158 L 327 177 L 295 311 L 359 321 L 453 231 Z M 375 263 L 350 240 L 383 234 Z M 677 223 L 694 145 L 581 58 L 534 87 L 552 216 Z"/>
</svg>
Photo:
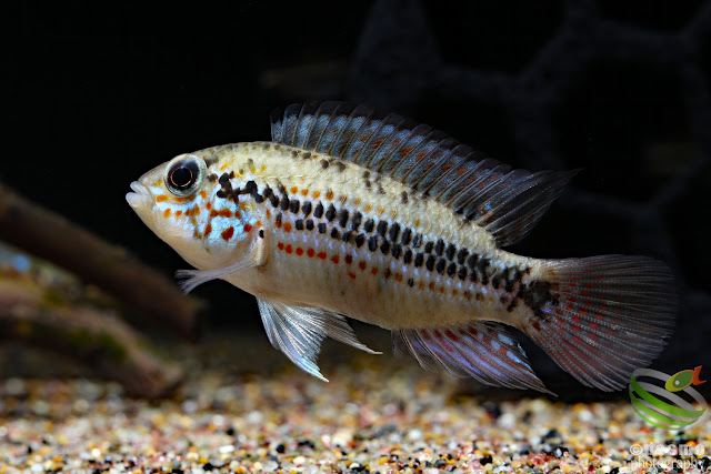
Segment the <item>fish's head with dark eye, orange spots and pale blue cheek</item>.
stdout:
<svg viewBox="0 0 711 474">
<path fill-rule="evenodd" d="M 226 183 L 209 164 L 219 157 L 211 153 L 218 151 L 180 154 L 133 181 L 126 195 L 150 230 L 201 270 L 238 261 L 249 245 L 250 222 L 258 221 L 238 193 L 224 195 Z"/>
</svg>

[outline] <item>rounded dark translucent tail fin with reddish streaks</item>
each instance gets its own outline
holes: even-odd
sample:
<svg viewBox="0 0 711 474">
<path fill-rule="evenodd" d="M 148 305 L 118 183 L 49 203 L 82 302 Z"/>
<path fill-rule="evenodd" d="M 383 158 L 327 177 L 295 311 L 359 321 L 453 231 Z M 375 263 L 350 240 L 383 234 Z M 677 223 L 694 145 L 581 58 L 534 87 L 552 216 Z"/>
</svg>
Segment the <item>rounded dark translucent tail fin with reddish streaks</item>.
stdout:
<svg viewBox="0 0 711 474">
<path fill-rule="evenodd" d="M 673 329 L 669 268 L 644 256 L 547 261 L 549 299 L 520 327 L 583 385 L 622 389 Z"/>
</svg>

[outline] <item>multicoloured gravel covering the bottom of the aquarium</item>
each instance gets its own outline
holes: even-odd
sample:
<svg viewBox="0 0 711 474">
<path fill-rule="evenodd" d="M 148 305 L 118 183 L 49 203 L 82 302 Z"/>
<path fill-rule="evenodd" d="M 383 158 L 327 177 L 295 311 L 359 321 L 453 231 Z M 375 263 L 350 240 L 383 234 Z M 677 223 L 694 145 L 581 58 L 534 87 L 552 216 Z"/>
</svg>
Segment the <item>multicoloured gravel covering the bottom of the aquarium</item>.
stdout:
<svg viewBox="0 0 711 474">
<path fill-rule="evenodd" d="M 266 337 L 173 350 L 191 375 L 158 402 L 126 399 L 111 382 L 1 381 L 0 474 L 711 470 L 708 415 L 674 437 L 645 426 L 629 400 L 469 396 L 389 351 L 328 349 L 330 383 L 282 364 Z M 651 453 L 650 443 L 689 454 Z"/>
</svg>

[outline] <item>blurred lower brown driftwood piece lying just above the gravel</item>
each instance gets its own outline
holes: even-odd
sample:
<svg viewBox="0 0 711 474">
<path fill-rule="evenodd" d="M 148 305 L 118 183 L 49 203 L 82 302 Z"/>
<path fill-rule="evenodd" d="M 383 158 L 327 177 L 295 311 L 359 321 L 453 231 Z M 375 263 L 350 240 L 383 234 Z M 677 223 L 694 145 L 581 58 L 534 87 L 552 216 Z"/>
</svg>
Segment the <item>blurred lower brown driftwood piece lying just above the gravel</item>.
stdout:
<svg viewBox="0 0 711 474">
<path fill-rule="evenodd" d="M 68 355 L 130 395 L 167 395 L 182 380 L 178 365 L 151 354 L 150 344 L 111 312 L 48 300 L 27 279 L 0 279 L 0 339 Z"/>
</svg>

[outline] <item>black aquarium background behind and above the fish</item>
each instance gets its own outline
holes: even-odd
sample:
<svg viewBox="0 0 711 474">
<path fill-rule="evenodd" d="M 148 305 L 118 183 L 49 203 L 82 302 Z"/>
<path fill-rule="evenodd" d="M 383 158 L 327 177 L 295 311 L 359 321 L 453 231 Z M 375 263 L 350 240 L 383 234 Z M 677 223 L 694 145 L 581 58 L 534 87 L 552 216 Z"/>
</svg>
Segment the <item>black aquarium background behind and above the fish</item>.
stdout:
<svg viewBox="0 0 711 474">
<path fill-rule="evenodd" d="M 131 181 L 179 153 L 268 140 L 274 108 L 351 100 L 515 167 L 582 168 L 513 250 L 668 262 L 679 324 L 653 366 L 711 370 L 709 1 L 28 3 L 3 17 L 0 180 L 166 274 L 186 264 L 126 203 Z M 262 333 L 253 297 L 222 282 L 196 293 L 212 327 Z"/>
</svg>

